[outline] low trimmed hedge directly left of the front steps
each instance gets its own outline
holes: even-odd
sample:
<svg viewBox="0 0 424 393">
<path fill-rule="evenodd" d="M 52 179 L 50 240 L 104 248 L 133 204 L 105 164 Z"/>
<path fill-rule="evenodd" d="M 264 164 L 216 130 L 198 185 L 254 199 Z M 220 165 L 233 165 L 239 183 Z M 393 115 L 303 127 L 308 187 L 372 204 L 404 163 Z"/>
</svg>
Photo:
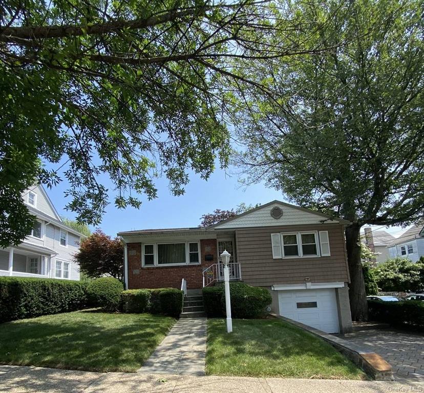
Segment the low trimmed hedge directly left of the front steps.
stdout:
<svg viewBox="0 0 424 393">
<path fill-rule="evenodd" d="M 183 307 L 183 292 L 175 288 L 130 289 L 121 294 L 125 313 L 165 314 L 178 318 Z"/>
</svg>

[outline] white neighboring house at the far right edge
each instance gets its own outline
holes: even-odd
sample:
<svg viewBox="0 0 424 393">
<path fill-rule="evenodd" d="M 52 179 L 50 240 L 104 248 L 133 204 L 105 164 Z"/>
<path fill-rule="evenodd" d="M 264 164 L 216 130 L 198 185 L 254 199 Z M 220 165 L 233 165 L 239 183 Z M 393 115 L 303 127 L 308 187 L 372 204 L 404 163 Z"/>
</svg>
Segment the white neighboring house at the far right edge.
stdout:
<svg viewBox="0 0 424 393">
<path fill-rule="evenodd" d="M 424 228 L 421 225 L 413 225 L 394 239 L 387 249 L 391 257 L 401 256 L 416 262 L 424 256 Z"/>
</svg>

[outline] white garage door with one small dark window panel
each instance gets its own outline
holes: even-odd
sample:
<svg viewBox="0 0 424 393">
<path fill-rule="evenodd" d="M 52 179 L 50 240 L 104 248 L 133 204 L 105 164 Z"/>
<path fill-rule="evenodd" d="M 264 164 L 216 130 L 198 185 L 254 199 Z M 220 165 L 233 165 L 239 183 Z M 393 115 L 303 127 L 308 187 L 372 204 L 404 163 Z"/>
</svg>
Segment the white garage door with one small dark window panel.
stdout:
<svg viewBox="0 0 424 393">
<path fill-rule="evenodd" d="M 327 333 L 338 333 L 334 288 L 279 291 L 280 315 Z"/>
</svg>

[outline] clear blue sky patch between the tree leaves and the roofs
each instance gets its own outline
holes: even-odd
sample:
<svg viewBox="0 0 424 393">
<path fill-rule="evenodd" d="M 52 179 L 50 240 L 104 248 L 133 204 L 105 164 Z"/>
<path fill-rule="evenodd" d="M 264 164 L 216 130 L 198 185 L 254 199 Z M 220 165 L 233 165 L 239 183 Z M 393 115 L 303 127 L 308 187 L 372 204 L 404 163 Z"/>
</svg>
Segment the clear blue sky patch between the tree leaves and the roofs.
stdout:
<svg viewBox="0 0 424 393">
<path fill-rule="evenodd" d="M 153 201 L 141 198 L 143 204 L 140 209 L 120 210 L 113 204 L 109 205 L 99 227 L 110 235 L 134 229 L 196 227 L 202 214 L 215 209 L 235 208 L 242 202 L 255 205 L 275 199 L 285 201 L 281 192 L 266 188 L 263 184 L 240 187 L 236 175 L 228 175 L 221 169 L 216 169 L 207 181 L 190 173 L 190 183 L 180 197 L 174 197 L 169 192 L 166 179 L 157 179 L 156 187 L 158 198 Z M 63 181 L 53 189 L 46 188 L 46 191 L 58 213 L 72 219 L 74 214 L 64 209 L 68 202 L 63 195 L 66 189 L 67 184 Z M 110 188 L 111 200 L 113 195 Z"/>
</svg>

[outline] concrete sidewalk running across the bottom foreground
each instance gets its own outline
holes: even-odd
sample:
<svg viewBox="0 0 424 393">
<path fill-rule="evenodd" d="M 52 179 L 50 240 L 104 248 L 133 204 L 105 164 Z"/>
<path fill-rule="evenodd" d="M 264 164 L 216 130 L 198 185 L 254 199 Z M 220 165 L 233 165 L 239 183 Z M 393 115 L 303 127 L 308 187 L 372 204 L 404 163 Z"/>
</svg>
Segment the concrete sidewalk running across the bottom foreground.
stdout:
<svg viewBox="0 0 424 393">
<path fill-rule="evenodd" d="M 422 392 L 422 383 L 89 373 L 0 366 L 0 392 L 8 393 L 389 393 Z"/>
</svg>

